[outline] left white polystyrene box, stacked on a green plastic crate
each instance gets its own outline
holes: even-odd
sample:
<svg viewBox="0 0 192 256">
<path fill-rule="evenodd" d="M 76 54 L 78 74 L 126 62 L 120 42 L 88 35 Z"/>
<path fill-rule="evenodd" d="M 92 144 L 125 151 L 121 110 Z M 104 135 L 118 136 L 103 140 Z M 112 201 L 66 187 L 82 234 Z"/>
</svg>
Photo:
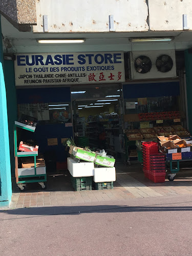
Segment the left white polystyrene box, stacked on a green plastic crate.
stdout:
<svg viewBox="0 0 192 256">
<path fill-rule="evenodd" d="M 94 163 L 77 163 L 73 159 L 69 159 L 68 162 L 68 170 L 73 177 L 90 177 L 94 175 Z"/>
</svg>

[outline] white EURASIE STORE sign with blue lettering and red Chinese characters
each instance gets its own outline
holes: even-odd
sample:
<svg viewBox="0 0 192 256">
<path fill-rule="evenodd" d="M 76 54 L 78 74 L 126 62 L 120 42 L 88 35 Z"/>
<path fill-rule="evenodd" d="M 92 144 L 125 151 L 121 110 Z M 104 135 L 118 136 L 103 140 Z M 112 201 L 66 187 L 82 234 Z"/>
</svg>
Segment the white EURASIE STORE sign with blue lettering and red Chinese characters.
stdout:
<svg viewBox="0 0 192 256">
<path fill-rule="evenodd" d="M 123 52 L 16 55 L 16 86 L 106 82 L 124 82 Z"/>
</svg>

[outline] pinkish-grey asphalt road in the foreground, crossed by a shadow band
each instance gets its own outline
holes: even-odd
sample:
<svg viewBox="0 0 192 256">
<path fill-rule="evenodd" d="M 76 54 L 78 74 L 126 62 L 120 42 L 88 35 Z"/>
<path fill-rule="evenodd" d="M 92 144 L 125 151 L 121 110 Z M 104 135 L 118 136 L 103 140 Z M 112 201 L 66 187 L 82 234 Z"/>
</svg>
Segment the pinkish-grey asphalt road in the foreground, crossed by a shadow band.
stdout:
<svg viewBox="0 0 192 256">
<path fill-rule="evenodd" d="M 192 255 L 191 196 L 0 211 L 0 255 Z"/>
</svg>

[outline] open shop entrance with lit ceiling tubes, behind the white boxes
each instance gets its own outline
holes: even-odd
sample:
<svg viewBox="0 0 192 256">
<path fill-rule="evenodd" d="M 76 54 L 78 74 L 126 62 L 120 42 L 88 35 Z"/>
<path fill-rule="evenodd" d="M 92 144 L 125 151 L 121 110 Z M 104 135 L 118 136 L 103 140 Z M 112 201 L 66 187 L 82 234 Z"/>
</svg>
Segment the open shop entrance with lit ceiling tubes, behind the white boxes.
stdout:
<svg viewBox="0 0 192 256">
<path fill-rule="evenodd" d="M 121 159 L 123 154 L 121 84 L 71 88 L 76 145 L 104 150 Z"/>
</svg>

